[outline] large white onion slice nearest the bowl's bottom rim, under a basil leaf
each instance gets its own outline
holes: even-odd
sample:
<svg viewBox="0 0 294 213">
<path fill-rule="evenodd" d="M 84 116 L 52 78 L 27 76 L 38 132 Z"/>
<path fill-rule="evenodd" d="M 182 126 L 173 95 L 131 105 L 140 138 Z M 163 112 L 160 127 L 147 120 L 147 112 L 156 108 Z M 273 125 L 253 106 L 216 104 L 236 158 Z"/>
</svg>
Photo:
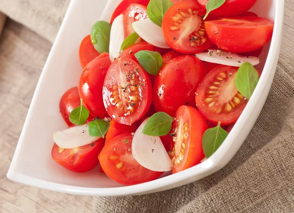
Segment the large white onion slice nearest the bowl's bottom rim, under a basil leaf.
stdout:
<svg viewBox="0 0 294 213">
<path fill-rule="evenodd" d="M 143 134 L 148 118 L 140 125 L 132 141 L 133 157 L 147 169 L 157 172 L 170 171 L 172 160 L 165 150 L 160 137 Z"/>
</svg>

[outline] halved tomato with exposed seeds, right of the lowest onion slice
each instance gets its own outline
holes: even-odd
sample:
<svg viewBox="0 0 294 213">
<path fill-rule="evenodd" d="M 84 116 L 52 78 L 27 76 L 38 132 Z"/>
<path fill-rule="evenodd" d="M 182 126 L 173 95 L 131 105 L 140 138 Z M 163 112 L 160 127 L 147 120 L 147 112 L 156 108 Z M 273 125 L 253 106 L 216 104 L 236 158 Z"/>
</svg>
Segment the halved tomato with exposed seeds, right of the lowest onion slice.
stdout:
<svg viewBox="0 0 294 213">
<path fill-rule="evenodd" d="M 201 113 L 191 106 L 180 106 L 172 123 L 174 147 L 170 152 L 172 173 L 195 166 L 204 158 L 202 135 L 207 123 Z"/>
</svg>

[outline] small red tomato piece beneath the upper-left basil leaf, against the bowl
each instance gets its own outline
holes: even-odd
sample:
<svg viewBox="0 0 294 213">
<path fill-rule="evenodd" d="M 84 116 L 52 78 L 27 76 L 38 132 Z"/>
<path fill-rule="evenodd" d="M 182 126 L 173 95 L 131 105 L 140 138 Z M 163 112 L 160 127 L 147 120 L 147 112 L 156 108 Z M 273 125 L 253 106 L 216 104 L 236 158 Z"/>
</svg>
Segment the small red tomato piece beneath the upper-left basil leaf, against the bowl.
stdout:
<svg viewBox="0 0 294 213">
<path fill-rule="evenodd" d="M 94 58 L 98 57 L 100 53 L 95 50 L 94 45 L 91 41 L 91 36 L 87 35 L 81 42 L 79 48 L 79 59 L 82 68 L 84 69 L 85 66 L 92 61 Z"/>
</svg>

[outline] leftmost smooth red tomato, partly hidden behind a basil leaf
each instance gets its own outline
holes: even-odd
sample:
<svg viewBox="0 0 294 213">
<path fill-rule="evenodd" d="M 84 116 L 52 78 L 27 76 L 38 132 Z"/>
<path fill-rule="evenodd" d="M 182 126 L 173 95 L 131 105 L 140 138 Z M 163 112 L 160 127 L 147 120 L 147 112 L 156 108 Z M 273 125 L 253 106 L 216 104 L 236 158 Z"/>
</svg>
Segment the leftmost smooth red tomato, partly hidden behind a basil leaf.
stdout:
<svg viewBox="0 0 294 213">
<path fill-rule="evenodd" d="M 59 110 L 67 125 L 72 126 L 73 123 L 70 121 L 70 114 L 74 108 L 80 106 L 81 101 L 78 95 L 78 88 L 74 86 L 67 90 L 61 97 L 59 102 Z M 85 104 L 83 103 L 85 106 Z M 87 106 L 85 106 L 87 108 Z M 88 121 L 93 120 L 95 116 L 89 115 Z"/>
</svg>

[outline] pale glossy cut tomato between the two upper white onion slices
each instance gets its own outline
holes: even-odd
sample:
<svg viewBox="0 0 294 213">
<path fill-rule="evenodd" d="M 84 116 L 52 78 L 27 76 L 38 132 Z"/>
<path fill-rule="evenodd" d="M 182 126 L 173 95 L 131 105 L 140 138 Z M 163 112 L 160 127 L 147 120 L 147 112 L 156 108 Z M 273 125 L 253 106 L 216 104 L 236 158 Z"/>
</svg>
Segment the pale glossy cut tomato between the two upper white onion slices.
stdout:
<svg viewBox="0 0 294 213">
<path fill-rule="evenodd" d="M 130 4 L 123 12 L 124 38 L 135 32 L 132 27 L 133 22 L 147 18 L 148 16 L 146 6 L 142 4 Z"/>
</svg>

